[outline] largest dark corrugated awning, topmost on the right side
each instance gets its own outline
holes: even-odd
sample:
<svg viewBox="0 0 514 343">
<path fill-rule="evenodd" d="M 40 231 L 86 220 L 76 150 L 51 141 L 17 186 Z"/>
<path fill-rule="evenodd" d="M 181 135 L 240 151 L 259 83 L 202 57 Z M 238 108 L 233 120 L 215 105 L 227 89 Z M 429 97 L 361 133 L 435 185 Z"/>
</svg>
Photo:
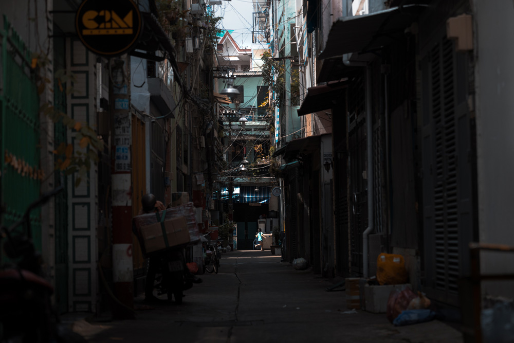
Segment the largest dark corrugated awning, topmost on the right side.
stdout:
<svg viewBox="0 0 514 343">
<path fill-rule="evenodd" d="M 365 15 L 340 17 L 328 33 L 320 59 L 342 56 L 379 48 L 403 35 L 427 8 L 427 5 L 405 5 Z"/>
</svg>

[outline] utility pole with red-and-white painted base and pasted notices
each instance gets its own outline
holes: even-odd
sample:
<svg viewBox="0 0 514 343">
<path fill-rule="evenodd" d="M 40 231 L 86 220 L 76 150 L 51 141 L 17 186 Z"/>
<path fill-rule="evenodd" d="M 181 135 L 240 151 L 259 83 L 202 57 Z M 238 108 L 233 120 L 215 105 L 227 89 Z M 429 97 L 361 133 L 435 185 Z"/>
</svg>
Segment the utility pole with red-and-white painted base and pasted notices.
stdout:
<svg viewBox="0 0 514 343">
<path fill-rule="evenodd" d="M 132 172 L 131 172 L 131 112 L 130 59 L 123 55 L 111 59 L 109 98 L 112 148 L 112 228 L 114 294 L 124 305 L 115 305 L 115 318 L 130 318 L 134 308 L 134 267 L 132 262 Z"/>
</svg>

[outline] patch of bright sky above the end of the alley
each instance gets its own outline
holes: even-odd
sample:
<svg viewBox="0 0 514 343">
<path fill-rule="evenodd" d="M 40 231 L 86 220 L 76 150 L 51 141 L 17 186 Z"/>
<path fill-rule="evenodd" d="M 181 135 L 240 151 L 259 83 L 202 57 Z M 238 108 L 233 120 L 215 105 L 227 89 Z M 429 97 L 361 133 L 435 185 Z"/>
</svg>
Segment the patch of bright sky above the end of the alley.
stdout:
<svg viewBox="0 0 514 343">
<path fill-rule="evenodd" d="M 215 16 L 222 16 L 221 28 L 235 30 L 232 38 L 240 47 L 251 48 L 252 45 L 252 12 L 251 0 L 222 0 L 222 5 L 214 5 Z"/>
</svg>

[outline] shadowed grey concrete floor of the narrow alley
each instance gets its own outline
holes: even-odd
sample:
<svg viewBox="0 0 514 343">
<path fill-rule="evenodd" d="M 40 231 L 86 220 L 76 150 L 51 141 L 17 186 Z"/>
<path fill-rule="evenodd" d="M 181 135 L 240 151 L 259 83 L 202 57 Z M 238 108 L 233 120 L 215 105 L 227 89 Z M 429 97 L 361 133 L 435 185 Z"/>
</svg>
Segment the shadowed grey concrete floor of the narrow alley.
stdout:
<svg viewBox="0 0 514 343">
<path fill-rule="evenodd" d="M 385 314 L 346 314 L 334 279 L 295 270 L 270 251 L 223 255 L 218 274 L 186 291 L 182 305 L 135 300 L 136 320 L 89 323 L 74 331 L 91 342 L 462 342 L 440 321 L 394 327 Z"/>
</svg>

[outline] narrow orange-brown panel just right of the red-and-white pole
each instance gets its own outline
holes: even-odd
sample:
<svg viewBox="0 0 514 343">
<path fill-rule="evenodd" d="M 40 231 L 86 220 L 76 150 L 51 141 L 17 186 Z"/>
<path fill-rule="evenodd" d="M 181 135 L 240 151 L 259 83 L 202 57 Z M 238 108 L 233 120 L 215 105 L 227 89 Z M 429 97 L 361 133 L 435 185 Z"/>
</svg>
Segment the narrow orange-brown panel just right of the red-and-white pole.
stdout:
<svg viewBox="0 0 514 343">
<path fill-rule="evenodd" d="M 146 193 L 146 154 L 144 122 L 136 115 L 132 116 L 132 215 L 138 214 L 141 197 Z M 141 246 L 134 237 L 132 262 L 134 276 L 144 274 L 144 258 Z"/>
</svg>

